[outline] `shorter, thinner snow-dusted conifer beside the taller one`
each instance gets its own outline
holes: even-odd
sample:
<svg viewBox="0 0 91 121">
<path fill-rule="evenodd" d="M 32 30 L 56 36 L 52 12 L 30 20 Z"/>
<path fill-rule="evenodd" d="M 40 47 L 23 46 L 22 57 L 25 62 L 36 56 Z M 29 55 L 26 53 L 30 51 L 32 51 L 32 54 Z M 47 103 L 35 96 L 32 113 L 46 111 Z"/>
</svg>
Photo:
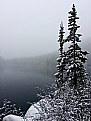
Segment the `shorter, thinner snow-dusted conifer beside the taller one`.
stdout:
<svg viewBox="0 0 91 121">
<path fill-rule="evenodd" d="M 63 27 L 63 23 L 61 22 L 60 24 L 60 30 L 59 30 L 59 58 L 57 58 L 57 73 L 55 74 L 55 77 L 57 78 L 56 80 L 56 84 L 57 87 L 59 88 L 61 86 L 61 84 L 64 82 L 64 71 L 65 71 L 65 52 L 64 52 L 64 27 Z"/>
</svg>

